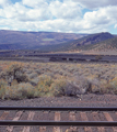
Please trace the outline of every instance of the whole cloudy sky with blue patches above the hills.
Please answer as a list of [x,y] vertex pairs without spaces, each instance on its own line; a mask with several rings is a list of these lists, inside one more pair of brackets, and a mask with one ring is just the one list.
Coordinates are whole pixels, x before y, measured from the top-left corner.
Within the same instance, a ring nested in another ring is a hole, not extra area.
[[117,34],[117,0],[0,0],[0,30]]

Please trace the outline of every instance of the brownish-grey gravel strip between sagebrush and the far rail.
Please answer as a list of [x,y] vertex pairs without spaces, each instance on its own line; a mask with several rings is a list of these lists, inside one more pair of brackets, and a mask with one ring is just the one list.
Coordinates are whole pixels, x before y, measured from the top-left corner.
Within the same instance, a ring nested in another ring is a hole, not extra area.
[[117,107],[117,95],[79,95],[78,97],[48,97],[23,100],[0,100],[0,106],[32,107]]

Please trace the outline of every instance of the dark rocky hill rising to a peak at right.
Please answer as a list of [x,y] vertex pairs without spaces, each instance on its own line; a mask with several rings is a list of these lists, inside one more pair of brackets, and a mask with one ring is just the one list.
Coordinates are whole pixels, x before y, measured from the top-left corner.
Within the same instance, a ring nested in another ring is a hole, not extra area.
[[112,35],[110,33],[107,32],[90,34],[87,36],[84,36],[75,41],[56,45],[56,47],[54,45],[49,46],[48,50],[49,51],[90,51],[90,50],[95,50],[95,46],[97,46],[97,44],[101,47],[101,44],[104,41],[107,43],[109,40],[113,38],[115,40],[115,35]]

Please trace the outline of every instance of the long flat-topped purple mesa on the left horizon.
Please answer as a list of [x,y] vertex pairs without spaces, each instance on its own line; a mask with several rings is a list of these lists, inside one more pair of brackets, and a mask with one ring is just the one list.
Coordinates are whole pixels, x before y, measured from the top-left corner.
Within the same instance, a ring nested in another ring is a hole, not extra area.
[[56,45],[78,40],[86,34],[58,32],[0,31],[0,50],[34,50],[42,45]]

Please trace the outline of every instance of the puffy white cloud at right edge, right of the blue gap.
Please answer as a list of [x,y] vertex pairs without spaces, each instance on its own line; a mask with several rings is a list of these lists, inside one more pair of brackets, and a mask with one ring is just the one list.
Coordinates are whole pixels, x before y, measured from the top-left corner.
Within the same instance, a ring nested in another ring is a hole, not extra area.
[[116,16],[117,7],[101,8],[97,11],[86,12],[84,14],[84,21],[90,23],[92,26],[107,26],[114,24],[117,21]]

